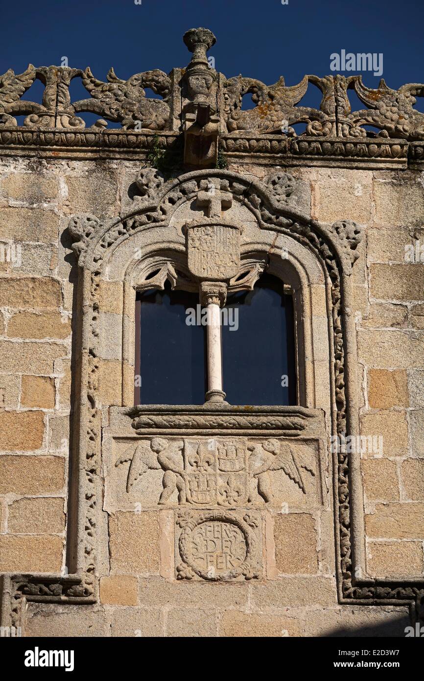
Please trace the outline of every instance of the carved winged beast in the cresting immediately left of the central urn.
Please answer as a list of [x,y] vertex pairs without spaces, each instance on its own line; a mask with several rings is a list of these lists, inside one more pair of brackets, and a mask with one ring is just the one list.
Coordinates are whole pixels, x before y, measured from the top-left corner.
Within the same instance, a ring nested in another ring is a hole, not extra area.
[[[107,78],[108,82],[97,80],[89,67],[85,69],[82,84],[92,99],[75,102],[76,112],[100,114],[111,121],[120,121],[123,128],[135,127],[137,122],[146,129],[162,130],[165,127],[170,112],[166,99],[171,88],[165,72],[154,69],[122,80],[111,68]],[[146,87],[163,99],[147,98]]]

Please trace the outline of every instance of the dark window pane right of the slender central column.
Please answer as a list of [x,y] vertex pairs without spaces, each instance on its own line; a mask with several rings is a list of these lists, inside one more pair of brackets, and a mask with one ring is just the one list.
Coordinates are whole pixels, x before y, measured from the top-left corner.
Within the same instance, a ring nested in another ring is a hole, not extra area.
[[[227,297],[223,383],[231,405],[297,404],[293,297],[263,274],[252,291]],[[238,311],[238,319],[235,316]],[[235,330],[235,321],[238,329]]]

